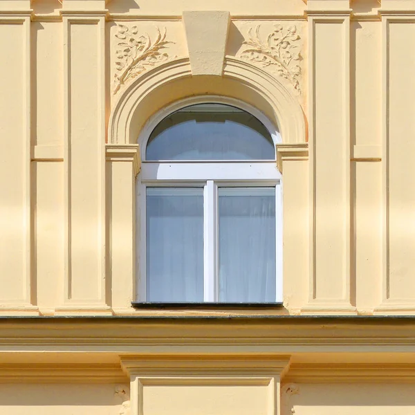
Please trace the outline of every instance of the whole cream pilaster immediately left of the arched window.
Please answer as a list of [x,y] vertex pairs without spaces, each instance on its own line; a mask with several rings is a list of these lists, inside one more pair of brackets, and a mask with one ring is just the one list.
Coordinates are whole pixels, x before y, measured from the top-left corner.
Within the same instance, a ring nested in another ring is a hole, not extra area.
[[105,3],[64,0],[63,302],[57,313],[111,313],[106,279]]

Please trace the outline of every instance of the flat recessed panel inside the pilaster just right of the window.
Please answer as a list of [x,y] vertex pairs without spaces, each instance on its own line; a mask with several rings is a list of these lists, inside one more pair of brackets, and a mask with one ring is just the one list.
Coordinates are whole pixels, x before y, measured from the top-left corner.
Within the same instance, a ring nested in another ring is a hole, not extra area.
[[[344,21],[315,22],[315,298],[344,299],[347,129]],[[348,261],[349,259],[347,259]],[[349,277],[349,275],[347,275]]]

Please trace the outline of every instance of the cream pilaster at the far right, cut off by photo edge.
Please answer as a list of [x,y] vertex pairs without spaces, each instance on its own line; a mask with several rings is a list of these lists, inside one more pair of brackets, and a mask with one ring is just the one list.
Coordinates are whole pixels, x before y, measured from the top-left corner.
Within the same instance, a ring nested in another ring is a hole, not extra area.
[[[376,314],[414,314],[415,1],[384,0],[382,17],[382,303]],[[405,42],[405,45],[403,44]]]

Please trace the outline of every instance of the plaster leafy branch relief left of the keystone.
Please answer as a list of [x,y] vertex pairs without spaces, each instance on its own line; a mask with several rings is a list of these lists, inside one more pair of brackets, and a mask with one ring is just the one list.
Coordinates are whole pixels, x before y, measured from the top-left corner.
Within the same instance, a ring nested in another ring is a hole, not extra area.
[[113,93],[116,94],[122,85],[126,84],[141,73],[145,72],[150,66],[155,66],[169,59],[167,53],[160,50],[166,48],[169,42],[166,40],[166,29],[160,32],[157,28],[157,36],[154,41],[148,33],[137,36],[137,26],[128,28],[123,24],[118,25],[116,37],[120,39],[116,49],[116,71],[114,74]]

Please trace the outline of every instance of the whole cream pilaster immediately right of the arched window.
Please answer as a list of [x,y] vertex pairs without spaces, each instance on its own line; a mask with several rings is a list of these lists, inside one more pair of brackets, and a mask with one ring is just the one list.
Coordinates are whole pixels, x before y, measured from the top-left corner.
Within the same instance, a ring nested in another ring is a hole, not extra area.
[[308,0],[309,298],[302,313],[353,314],[348,0]]

